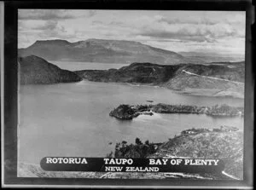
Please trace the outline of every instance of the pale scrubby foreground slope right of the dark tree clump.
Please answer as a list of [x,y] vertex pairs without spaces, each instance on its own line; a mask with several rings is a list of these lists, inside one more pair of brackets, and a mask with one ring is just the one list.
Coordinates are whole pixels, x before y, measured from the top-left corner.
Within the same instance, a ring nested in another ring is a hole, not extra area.
[[[196,135],[179,135],[163,143],[152,157],[220,158],[224,171],[242,179],[243,133],[207,132]],[[168,156],[167,156],[168,157]]]

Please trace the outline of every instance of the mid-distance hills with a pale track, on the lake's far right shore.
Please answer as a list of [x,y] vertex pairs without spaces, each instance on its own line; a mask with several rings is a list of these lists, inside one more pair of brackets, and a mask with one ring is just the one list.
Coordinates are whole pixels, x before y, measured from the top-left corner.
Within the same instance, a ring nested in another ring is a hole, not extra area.
[[120,69],[84,70],[75,73],[90,81],[158,85],[193,95],[242,98],[244,92],[244,62],[214,63],[209,66],[132,63]]

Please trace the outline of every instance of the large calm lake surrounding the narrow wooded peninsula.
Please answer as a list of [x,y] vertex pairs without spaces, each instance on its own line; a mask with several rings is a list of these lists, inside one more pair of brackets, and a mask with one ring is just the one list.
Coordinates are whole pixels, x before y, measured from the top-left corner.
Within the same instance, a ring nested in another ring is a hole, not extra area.
[[[131,121],[109,117],[119,104],[156,103],[243,106],[232,98],[179,95],[170,89],[120,83],[58,83],[20,86],[19,160],[39,164],[46,156],[104,157],[116,142],[162,142],[190,128],[232,125],[243,118],[212,118],[193,114],[154,114]],[[112,144],[111,144],[112,142]]]

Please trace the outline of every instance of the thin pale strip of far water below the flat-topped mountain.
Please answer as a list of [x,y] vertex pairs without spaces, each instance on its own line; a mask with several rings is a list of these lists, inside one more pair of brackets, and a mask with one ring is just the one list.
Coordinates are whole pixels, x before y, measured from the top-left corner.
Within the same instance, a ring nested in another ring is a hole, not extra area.
[[107,70],[109,68],[119,69],[122,66],[129,66],[130,64],[124,63],[96,63],[96,62],[79,62],[79,61],[55,61],[49,60],[50,63],[59,66],[61,69],[67,69],[69,71],[79,71],[79,70]]

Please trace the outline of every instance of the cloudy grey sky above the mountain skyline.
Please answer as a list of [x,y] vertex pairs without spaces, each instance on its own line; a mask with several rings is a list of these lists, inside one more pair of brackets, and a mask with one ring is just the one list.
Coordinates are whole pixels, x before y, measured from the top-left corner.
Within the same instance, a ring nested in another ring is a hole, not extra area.
[[18,47],[37,40],[131,40],[175,52],[244,55],[245,12],[19,9]]

